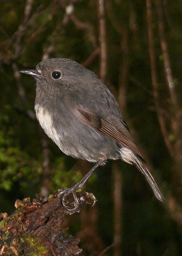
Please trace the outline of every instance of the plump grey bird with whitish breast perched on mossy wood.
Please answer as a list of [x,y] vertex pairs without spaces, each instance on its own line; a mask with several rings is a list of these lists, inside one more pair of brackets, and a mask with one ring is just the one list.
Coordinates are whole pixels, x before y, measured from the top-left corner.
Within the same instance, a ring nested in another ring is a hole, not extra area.
[[35,112],[48,137],[66,155],[96,162],[78,183],[64,190],[64,206],[66,195],[73,193],[74,210],[78,208],[75,191],[108,159],[121,159],[136,166],[156,198],[164,200],[144,166],[113,94],[92,71],[70,59],[56,58],[40,62],[35,70],[20,73],[36,80]]

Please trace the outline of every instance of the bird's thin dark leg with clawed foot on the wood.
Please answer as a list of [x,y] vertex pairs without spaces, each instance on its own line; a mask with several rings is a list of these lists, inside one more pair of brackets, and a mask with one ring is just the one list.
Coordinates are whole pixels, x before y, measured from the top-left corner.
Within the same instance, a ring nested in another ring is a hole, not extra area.
[[[98,166],[100,166],[101,164],[103,164],[105,162],[105,160],[98,160],[98,162],[92,167],[92,169],[82,178],[80,179],[75,185],[73,185],[71,188],[63,188],[63,189],[58,189],[58,193],[60,195],[64,194],[62,197],[62,204],[64,207],[66,207],[66,209],[68,211],[75,211],[79,208],[79,200],[76,196],[76,191],[78,189],[81,189],[82,186],[85,184],[85,182],[87,181],[87,179],[89,179],[89,177],[92,175],[92,173],[95,171],[96,168],[98,168]],[[66,197],[72,193],[73,198],[75,200],[75,207],[72,209],[69,209],[66,205]],[[95,197],[93,196],[93,199],[95,200]]]

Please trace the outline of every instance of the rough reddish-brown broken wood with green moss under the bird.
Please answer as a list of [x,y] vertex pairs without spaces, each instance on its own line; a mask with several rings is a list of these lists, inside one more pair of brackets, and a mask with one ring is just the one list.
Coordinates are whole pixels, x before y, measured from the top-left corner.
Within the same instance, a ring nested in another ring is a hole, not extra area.
[[[78,192],[80,208],[93,203],[92,194]],[[61,204],[58,193],[43,202],[38,194],[30,198],[17,199],[16,210],[10,216],[0,214],[0,255],[6,256],[73,256],[80,255],[79,238],[65,237],[62,223],[66,215],[75,214]],[[73,206],[72,194],[66,197],[68,205]],[[64,227],[65,230],[65,227]]]

